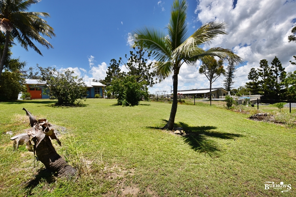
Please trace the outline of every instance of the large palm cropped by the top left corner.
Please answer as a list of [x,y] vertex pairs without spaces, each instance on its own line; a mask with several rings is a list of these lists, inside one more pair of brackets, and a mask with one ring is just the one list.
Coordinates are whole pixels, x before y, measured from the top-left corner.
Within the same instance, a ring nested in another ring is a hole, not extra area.
[[[16,39],[28,51],[28,46],[42,56],[41,51],[32,40],[46,48],[53,46],[41,35],[52,38],[54,29],[41,17],[49,17],[45,12],[26,12],[32,4],[41,0],[1,0],[0,1],[0,31],[5,34],[5,44],[0,61],[0,78],[7,56],[9,45]],[[41,35],[40,35],[41,34]]]

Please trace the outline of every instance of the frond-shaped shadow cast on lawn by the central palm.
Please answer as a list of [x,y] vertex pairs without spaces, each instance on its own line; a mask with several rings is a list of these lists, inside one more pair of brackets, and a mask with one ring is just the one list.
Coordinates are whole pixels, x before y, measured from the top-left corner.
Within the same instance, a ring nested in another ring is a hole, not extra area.
[[215,126],[189,126],[183,122],[179,122],[177,125],[183,127],[186,133],[183,136],[184,142],[189,144],[194,151],[204,152],[210,156],[217,151],[221,151],[211,138],[234,139],[243,136],[235,133],[212,131],[217,128]]

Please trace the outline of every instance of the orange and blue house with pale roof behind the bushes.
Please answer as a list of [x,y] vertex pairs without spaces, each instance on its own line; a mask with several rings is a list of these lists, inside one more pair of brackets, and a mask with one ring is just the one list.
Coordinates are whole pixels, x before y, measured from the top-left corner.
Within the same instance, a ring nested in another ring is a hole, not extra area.
[[[100,94],[104,98],[104,84],[100,82],[84,82],[86,84],[86,94],[87,98],[94,98],[94,95]],[[43,89],[46,87],[45,82],[40,82],[37,79],[25,79],[25,84],[27,87],[27,92],[31,94],[31,99],[48,99],[49,95],[43,95]],[[49,90],[46,90],[49,93]]]

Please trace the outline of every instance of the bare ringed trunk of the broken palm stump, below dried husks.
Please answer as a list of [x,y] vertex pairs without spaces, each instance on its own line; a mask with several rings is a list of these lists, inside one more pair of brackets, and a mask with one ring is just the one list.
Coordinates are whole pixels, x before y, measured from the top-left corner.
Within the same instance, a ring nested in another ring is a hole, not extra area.
[[41,161],[47,169],[56,173],[58,177],[75,176],[76,170],[57,154],[48,136],[44,137],[35,150],[38,160]]

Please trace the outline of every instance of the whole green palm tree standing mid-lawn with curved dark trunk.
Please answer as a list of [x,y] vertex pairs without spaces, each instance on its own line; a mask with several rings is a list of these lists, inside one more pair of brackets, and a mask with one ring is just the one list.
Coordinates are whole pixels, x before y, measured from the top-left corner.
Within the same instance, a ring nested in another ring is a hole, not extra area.
[[195,66],[196,61],[205,56],[217,56],[222,60],[234,59],[236,64],[242,62],[242,58],[229,49],[221,47],[210,48],[204,51],[200,48],[204,43],[209,43],[219,34],[227,34],[226,22],[209,22],[198,28],[188,37],[188,24],[186,21],[187,3],[185,0],[175,0],[171,8],[170,22],[167,32],[151,26],[143,26],[131,32],[131,39],[134,46],[141,45],[143,48],[154,51],[157,60],[155,69],[160,77],[173,75],[173,104],[168,123],[163,128],[172,130],[174,127],[177,112],[177,88],[178,74],[181,66],[186,63]]

